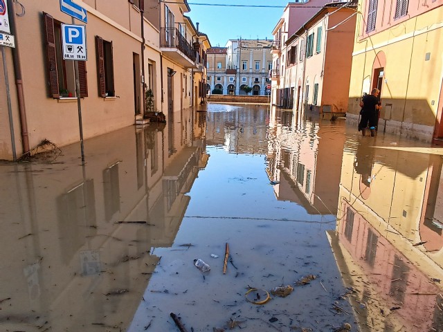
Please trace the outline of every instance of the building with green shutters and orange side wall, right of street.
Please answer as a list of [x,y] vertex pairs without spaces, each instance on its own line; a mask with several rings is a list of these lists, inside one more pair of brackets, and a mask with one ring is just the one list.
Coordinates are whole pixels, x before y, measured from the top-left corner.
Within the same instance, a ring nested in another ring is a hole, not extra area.
[[287,39],[275,104],[344,115],[350,86],[356,3],[325,5]]

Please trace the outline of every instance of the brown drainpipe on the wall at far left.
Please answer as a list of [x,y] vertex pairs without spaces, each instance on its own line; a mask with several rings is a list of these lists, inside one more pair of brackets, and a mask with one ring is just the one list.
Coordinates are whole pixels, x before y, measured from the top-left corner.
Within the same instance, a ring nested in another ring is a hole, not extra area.
[[26,122],[26,107],[23,92],[23,81],[21,80],[21,65],[19,55],[19,38],[17,35],[17,26],[15,25],[15,10],[12,0],[8,0],[8,8],[10,11],[9,23],[11,34],[15,36],[15,48],[12,48],[12,59],[14,62],[15,85],[17,86],[17,99],[19,101],[19,116],[21,126],[21,144],[23,153],[30,151],[28,123]]

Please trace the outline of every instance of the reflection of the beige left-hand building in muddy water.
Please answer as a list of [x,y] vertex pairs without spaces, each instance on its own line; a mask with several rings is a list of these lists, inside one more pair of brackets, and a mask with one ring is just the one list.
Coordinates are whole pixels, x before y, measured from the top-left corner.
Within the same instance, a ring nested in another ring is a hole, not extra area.
[[172,245],[207,160],[183,119],[173,154],[154,124],[85,141],[85,167],[76,145],[51,165],[2,167],[2,331],[129,325],[159,261],[150,248]]

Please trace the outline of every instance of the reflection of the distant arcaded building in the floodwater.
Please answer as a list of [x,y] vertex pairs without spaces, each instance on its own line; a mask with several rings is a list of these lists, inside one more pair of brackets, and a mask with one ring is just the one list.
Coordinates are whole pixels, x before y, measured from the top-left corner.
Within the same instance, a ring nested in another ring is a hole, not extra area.
[[255,105],[208,104],[207,144],[235,154],[265,154],[267,117],[267,110]]

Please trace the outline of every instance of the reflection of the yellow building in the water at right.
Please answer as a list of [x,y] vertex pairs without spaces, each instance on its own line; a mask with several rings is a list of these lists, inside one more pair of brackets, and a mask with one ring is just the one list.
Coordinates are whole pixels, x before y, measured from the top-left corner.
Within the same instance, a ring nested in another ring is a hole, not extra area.
[[442,158],[369,144],[346,142],[330,234],[361,331],[442,331]]

